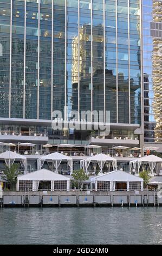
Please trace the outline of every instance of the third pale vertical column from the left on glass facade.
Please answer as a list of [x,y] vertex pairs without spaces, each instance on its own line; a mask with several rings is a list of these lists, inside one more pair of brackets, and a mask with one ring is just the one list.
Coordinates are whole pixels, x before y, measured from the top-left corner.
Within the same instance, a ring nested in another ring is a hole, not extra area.
[[40,107],[40,1],[38,1],[38,77],[37,77],[37,119],[39,119]]

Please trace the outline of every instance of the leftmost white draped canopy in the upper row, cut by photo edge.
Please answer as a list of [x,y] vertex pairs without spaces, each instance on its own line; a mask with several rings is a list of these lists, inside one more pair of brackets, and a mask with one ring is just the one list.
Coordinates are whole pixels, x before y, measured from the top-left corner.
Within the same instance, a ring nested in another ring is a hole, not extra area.
[[24,168],[24,173],[27,170],[27,157],[15,152],[5,151],[4,153],[1,153],[0,160],[4,160],[8,167],[10,167],[15,162],[15,160],[20,161],[21,166]]

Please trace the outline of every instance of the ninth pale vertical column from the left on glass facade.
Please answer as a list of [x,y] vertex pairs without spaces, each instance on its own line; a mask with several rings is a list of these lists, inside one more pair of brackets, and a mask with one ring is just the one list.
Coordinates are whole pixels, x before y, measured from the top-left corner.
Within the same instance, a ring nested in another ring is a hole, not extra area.
[[118,0],[115,5],[116,15],[116,123],[118,123]]

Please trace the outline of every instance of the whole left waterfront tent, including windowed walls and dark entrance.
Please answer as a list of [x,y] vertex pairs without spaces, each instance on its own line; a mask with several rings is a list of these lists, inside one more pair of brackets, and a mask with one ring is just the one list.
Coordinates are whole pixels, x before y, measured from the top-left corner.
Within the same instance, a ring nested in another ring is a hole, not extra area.
[[68,191],[70,178],[47,169],[18,176],[17,191]]

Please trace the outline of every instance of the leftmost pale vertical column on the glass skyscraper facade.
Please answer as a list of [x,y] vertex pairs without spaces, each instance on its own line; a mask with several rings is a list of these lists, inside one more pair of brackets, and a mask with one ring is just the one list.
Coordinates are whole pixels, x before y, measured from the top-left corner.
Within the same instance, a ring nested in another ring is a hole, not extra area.
[[10,78],[9,78],[9,118],[11,117],[11,65],[12,65],[12,0],[10,2]]

